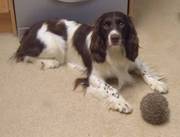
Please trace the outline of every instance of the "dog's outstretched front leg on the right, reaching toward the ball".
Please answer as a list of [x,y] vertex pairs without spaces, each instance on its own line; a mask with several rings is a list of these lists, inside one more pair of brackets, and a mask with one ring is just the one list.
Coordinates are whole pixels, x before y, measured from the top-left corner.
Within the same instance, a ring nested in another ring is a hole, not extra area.
[[167,93],[168,87],[166,83],[161,81],[161,77],[156,75],[150,68],[143,63],[140,59],[136,59],[135,66],[139,70],[140,75],[143,77],[144,81],[156,91],[160,93]]

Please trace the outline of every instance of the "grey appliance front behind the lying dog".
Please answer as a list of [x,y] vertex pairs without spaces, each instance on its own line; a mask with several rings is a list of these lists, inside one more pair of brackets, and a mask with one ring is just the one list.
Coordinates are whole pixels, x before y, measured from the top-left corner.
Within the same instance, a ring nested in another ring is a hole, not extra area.
[[81,23],[93,23],[105,12],[118,10],[127,14],[128,11],[128,0],[87,0],[77,3],[58,0],[14,0],[14,5],[18,34],[42,20],[65,18]]

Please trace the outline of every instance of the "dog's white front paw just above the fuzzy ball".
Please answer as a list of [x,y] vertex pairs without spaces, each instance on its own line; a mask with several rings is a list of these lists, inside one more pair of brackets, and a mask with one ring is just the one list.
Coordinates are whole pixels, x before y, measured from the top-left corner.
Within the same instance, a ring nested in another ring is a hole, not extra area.
[[159,93],[162,93],[162,94],[168,93],[168,87],[167,87],[166,83],[159,81],[159,80],[155,80],[152,83],[151,88],[155,91],[158,91]]

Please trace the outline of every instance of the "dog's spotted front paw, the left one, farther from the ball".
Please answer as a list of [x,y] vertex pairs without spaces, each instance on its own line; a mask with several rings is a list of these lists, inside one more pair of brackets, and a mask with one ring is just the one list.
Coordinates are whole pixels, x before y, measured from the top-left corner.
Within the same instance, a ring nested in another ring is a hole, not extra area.
[[110,106],[110,109],[119,111],[121,113],[129,114],[133,111],[131,105],[123,98],[114,98],[112,101],[112,105]]

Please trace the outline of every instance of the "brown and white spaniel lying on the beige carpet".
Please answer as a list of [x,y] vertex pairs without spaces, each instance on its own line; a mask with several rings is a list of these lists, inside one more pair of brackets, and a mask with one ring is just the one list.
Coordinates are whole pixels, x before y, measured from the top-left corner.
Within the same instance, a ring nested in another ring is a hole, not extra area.
[[[119,94],[122,86],[132,81],[130,71],[136,70],[153,90],[168,91],[160,77],[137,58],[135,27],[121,12],[103,14],[94,26],[66,19],[40,22],[24,34],[20,44],[15,53],[17,62],[41,62],[43,69],[68,64],[85,72],[83,78],[76,79],[75,88],[79,84],[86,86],[88,92],[104,99],[109,108],[122,113],[132,111]],[[118,89],[105,82],[109,77],[118,79]]]

